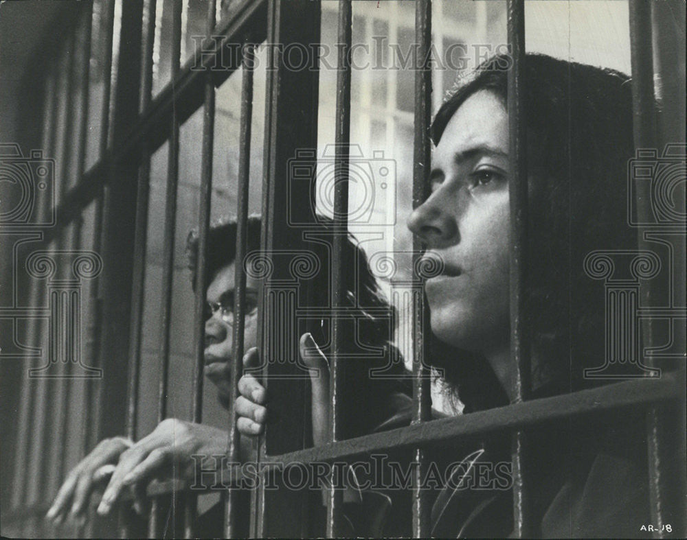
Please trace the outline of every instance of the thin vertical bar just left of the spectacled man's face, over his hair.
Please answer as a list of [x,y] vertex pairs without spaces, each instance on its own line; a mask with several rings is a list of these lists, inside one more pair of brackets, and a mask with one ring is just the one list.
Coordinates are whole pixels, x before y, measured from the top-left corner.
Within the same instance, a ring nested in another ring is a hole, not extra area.
[[[212,34],[215,24],[215,0],[207,3],[206,36]],[[201,190],[199,197],[198,218],[198,257],[196,259],[196,294],[194,306],[194,348],[195,366],[192,380],[192,421],[200,423],[203,420],[203,366],[205,351],[205,289],[207,287],[207,229],[210,227],[210,202],[212,198],[212,157],[214,149],[214,119],[215,119],[215,88],[212,71],[205,73],[205,100],[203,102],[203,156],[201,162]],[[238,272],[238,269],[236,270]],[[184,530],[185,537],[192,538],[193,524],[196,519],[197,497],[188,493],[185,503]]]

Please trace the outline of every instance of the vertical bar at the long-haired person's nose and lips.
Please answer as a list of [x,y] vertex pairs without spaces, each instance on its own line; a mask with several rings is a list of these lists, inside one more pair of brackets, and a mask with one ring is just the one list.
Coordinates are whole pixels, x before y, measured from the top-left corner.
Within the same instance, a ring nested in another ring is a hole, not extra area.
[[[431,1],[418,0],[415,4],[415,119],[414,119],[414,159],[413,159],[413,208],[423,204],[430,194],[429,171],[431,160]],[[422,62],[422,64],[420,64]],[[418,259],[423,246],[418,237],[413,239],[414,281],[420,281]],[[421,281],[420,281],[421,283]],[[413,314],[413,423],[431,420],[431,379],[427,359],[429,358],[429,309],[425,306],[422,289],[414,291]],[[430,535],[431,502],[429,491],[422,489],[422,479],[427,476],[429,460],[427,449],[414,451],[414,484],[412,498],[413,536],[427,538]]]

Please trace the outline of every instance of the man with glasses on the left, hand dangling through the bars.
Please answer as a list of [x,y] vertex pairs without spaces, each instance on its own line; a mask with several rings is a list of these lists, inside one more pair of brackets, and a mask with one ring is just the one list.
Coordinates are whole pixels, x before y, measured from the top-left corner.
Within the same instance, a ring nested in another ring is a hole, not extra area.
[[[330,287],[330,250],[332,222],[319,218],[319,226],[309,231],[311,237],[319,242],[311,242],[308,248],[322,266],[312,278],[314,296],[313,307],[327,307]],[[234,274],[236,221],[225,220],[213,226],[208,235],[207,276],[209,283],[206,292],[207,313],[205,314],[205,368],[204,373],[214,383],[218,399],[225,408],[229,406],[232,371],[232,325],[234,323]],[[192,274],[195,273],[198,251],[198,237],[192,231],[188,237],[187,253]],[[247,253],[258,252],[260,248],[260,218],[249,217],[247,223]],[[348,373],[346,384],[356,397],[357,409],[352,411],[354,419],[348,425],[348,436],[370,432],[376,425],[394,416],[398,403],[405,403],[409,386],[401,375],[405,375],[403,357],[390,344],[394,329],[395,310],[383,298],[383,294],[370,273],[368,261],[363,250],[353,237],[348,237],[344,245],[343,258],[348,268],[346,281],[346,307],[359,321],[358,341],[351,343],[348,350],[358,351],[359,347],[374,347],[383,352],[376,362],[357,362]],[[192,275],[195,284],[195,275]],[[258,336],[258,290],[260,281],[247,274],[245,308],[245,347],[255,347]],[[318,326],[317,340],[328,340],[328,321],[322,320]],[[315,364],[313,354],[319,349],[308,347],[314,340],[310,334],[301,340],[300,351],[306,365]],[[390,378],[368,380],[368,371],[374,367],[383,368]],[[313,386],[322,386],[313,373]],[[396,378],[394,378],[396,377]],[[258,395],[258,399],[262,396]],[[317,415],[318,410],[313,411]],[[250,419],[241,413],[237,403],[238,428],[242,433],[254,432],[255,426],[267,420],[264,412],[256,413]],[[313,434],[319,442],[319,434]],[[245,443],[245,441],[243,441]],[[243,444],[242,444],[243,446]],[[142,513],[145,506],[144,487],[152,478],[164,478],[178,467],[184,474],[194,472],[191,456],[217,456],[225,454],[227,432],[209,425],[197,424],[180,419],[166,419],[136,443],[124,437],[114,437],[101,441],[91,453],[72,469],[58,491],[54,503],[47,512],[48,519],[56,523],[71,516],[81,521],[89,498],[99,485],[109,478],[98,513],[108,514],[125,489],[131,489],[135,497],[135,508]],[[247,458],[247,452],[242,452]],[[212,508],[199,518],[199,528],[208,535],[222,534],[221,505]]]

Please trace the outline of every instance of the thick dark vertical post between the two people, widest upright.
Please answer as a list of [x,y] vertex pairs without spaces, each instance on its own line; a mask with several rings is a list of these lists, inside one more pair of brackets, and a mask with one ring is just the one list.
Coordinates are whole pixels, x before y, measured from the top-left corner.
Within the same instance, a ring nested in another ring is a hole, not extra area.
[[[270,0],[268,11],[269,69],[265,93],[261,247],[269,257],[275,249],[297,253],[304,248],[302,228],[289,224],[294,220],[300,223],[315,220],[311,193],[315,182],[319,71],[314,58],[306,69],[291,69],[282,54],[286,44],[300,43],[307,49],[307,44],[319,43],[320,5],[306,0]],[[311,167],[311,181],[291,181],[288,172],[293,159],[298,159],[299,165]],[[258,339],[267,377],[264,384],[269,388],[273,406],[278,403],[280,421],[267,425],[258,449],[260,459],[266,451],[299,449],[304,445],[305,436],[302,419],[306,401],[304,376],[307,375],[295,366],[295,362],[283,362],[285,355],[293,358],[298,354],[297,339],[296,336],[278,336],[278,331],[284,331],[280,328],[282,325],[268,324],[280,317],[283,320],[293,316],[293,312],[280,313],[282,304],[274,300],[283,292],[280,281],[293,283],[294,277],[288,260],[275,261],[273,268],[271,277],[264,279],[260,287]],[[267,313],[267,309],[272,312]],[[276,350],[273,344],[277,338],[284,338],[289,343],[288,351],[284,347]],[[288,375],[302,378],[283,378]],[[299,519],[303,505],[307,504],[306,493],[288,489],[270,490],[268,493],[264,490],[264,482],[260,482],[254,493],[252,536],[306,535],[306,524]]]

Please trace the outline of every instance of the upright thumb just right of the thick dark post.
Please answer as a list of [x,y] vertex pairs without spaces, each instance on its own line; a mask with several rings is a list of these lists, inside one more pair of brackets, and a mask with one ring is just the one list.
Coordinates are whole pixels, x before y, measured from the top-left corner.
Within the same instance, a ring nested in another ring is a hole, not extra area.
[[308,366],[313,388],[313,442],[321,446],[328,442],[329,435],[329,363],[309,332],[301,336],[300,354]]

